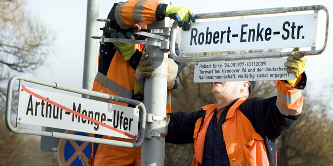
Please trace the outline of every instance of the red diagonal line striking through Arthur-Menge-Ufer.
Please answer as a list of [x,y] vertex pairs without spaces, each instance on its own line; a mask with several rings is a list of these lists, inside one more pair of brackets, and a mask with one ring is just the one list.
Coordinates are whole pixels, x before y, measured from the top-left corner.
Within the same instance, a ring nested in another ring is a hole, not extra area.
[[56,106],[58,106],[58,107],[60,107],[60,108],[62,108],[62,109],[64,109],[64,110],[67,110],[67,111],[69,111],[69,112],[71,112],[71,113],[73,113],[73,114],[76,114],[76,115],[78,115],[78,116],[80,116],[80,117],[83,117],[83,118],[85,118],[85,119],[87,119],[87,120],[90,120],[90,121],[92,121],[92,122],[94,122],[94,123],[100,124],[100,125],[102,125],[102,126],[104,126],[104,127],[107,127],[107,128],[109,128],[109,129],[111,129],[111,130],[114,130],[114,131],[116,131],[116,132],[119,132],[119,133],[121,133],[121,134],[123,134],[123,135],[126,135],[126,136],[130,137],[130,138],[136,139],[136,137],[135,137],[134,135],[132,135],[132,134],[129,134],[129,133],[125,132],[125,131],[122,131],[122,130],[120,130],[120,129],[118,129],[118,128],[112,127],[112,126],[110,126],[110,125],[108,125],[108,124],[105,124],[105,123],[103,123],[103,122],[101,122],[101,121],[98,121],[98,120],[96,120],[96,119],[94,119],[94,118],[91,118],[91,117],[89,117],[89,116],[86,116],[86,115],[84,115],[84,114],[82,114],[82,113],[79,113],[79,112],[77,112],[77,111],[75,111],[75,110],[72,110],[72,109],[70,109],[70,108],[68,108],[68,107],[66,107],[66,106],[64,106],[64,105],[61,105],[61,104],[59,104],[59,103],[57,103],[57,102],[55,102],[55,101],[52,101],[52,100],[50,100],[50,99],[48,99],[48,98],[46,98],[46,97],[43,97],[43,96],[41,96],[41,95],[39,95],[39,94],[37,94],[37,93],[35,93],[35,92],[32,92],[31,90],[27,89],[24,85],[22,85],[22,88],[23,88],[25,91],[27,91],[27,93],[29,93],[29,94],[31,94],[31,95],[33,95],[33,96],[39,98],[39,99],[42,99],[42,100],[44,100],[44,101],[47,101],[47,102],[49,102],[49,103],[51,103],[51,104],[53,104],[53,105],[56,105]]

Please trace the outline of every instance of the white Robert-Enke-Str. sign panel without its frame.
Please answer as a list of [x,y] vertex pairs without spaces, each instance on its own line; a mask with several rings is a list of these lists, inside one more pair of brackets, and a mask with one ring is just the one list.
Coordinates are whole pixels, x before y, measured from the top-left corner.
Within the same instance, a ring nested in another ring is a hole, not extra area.
[[180,53],[315,46],[317,13],[192,23]]

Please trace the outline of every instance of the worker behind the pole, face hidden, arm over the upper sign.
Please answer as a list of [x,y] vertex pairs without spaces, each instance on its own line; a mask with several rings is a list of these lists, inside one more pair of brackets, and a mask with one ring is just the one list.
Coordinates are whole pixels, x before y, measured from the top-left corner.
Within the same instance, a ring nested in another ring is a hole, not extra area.
[[[195,21],[194,13],[187,6],[163,4],[157,0],[130,0],[115,3],[108,14],[110,22],[107,26],[119,30],[119,32],[105,31],[103,35],[109,38],[135,39],[131,32],[124,31],[133,26],[139,30],[147,28],[147,23],[163,20],[165,16],[175,19],[179,27],[184,30],[189,28],[190,20]],[[98,73],[94,80],[93,90],[142,101],[144,77],[152,76],[154,69],[150,66],[152,59],[148,58],[147,53],[143,52],[142,49],[142,44],[134,43],[109,42],[101,44]],[[171,112],[170,90],[177,86],[176,75],[183,67],[184,65],[176,64],[172,59],[168,59],[167,112]],[[91,98],[102,100],[97,97]],[[104,101],[131,106],[118,101]],[[95,134],[95,137],[133,141],[132,139],[98,134]],[[140,165],[140,153],[140,147],[129,148],[93,143],[89,165]]]

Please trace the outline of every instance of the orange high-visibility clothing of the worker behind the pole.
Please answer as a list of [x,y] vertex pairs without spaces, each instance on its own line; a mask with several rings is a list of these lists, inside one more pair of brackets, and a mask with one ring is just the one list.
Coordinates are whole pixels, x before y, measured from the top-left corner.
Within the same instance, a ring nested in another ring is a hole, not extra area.
[[[115,3],[108,15],[108,18],[110,19],[108,26],[124,30],[133,27],[133,25],[138,22],[144,22],[136,24],[137,27],[141,28],[140,26],[145,25],[145,23],[152,23],[155,20],[164,19],[165,14],[163,17],[163,9],[160,9],[159,12],[156,11],[158,8],[163,8],[163,6],[166,6],[166,4],[159,4],[157,0],[130,0],[127,2]],[[105,37],[111,37],[110,33],[105,32],[103,35]],[[113,43],[101,44],[99,50],[98,73],[94,80],[93,90],[142,101],[142,94],[133,93],[135,69],[143,54],[143,45],[136,44],[136,48],[137,51],[131,56],[130,60],[126,61],[114,47]],[[169,69],[172,70],[170,63],[168,70]],[[168,74],[170,72],[171,71],[169,71]],[[103,100],[97,97],[92,97],[92,99]],[[127,103],[106,99],[103,101],[125,106],[128,105]],[[167,112],[171,112],[170,90],[167,91]],[[96,134],[95,136],[121,141],[133,141],[132,139],[107,135]],[[140,151],[141,148],[128,148],[93,143],[89,164],[140,165]]]

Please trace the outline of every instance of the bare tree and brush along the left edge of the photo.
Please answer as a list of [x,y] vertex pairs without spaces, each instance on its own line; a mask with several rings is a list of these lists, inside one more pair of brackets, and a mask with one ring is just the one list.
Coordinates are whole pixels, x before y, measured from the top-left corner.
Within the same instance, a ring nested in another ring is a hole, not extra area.
[[10,76],[32,72],[41,66],[53,38],[27,12],[24,2],[0,0],[0,165],[58,165],[54,153],[40,150],[40,137],[10,132],[4,124]]

